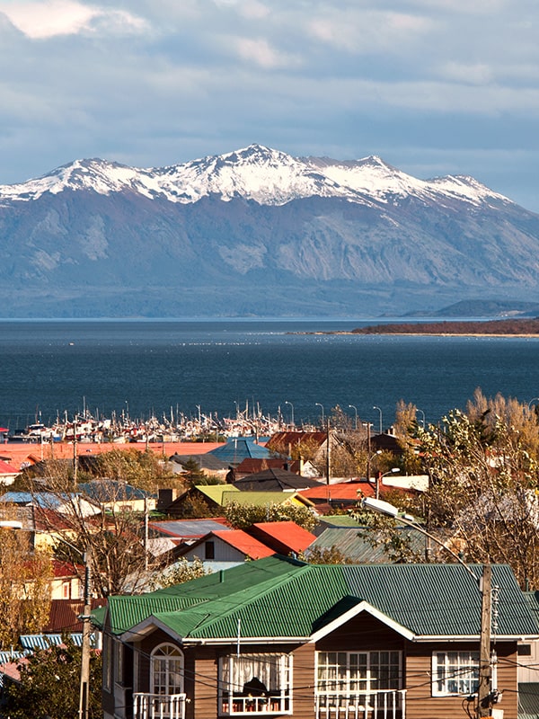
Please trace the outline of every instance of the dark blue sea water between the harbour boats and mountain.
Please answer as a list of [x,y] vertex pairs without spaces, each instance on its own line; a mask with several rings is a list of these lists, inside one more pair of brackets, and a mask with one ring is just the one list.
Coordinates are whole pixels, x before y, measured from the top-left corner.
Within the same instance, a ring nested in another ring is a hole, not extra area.
[[539,395],[537,338],[331,334],[363,324],[376,323],[2,320],[0,425],[246,408],[299,424],[340,405],[377,431],[401,399],[437,422],[476,387],[526,403]]

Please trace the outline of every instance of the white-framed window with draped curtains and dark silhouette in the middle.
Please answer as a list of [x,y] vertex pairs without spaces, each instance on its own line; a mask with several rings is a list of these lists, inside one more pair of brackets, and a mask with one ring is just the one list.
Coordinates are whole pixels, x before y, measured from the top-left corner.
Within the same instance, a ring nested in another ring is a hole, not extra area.
[[292,713],[292,657],[240,654],[219,662],[221,715]]

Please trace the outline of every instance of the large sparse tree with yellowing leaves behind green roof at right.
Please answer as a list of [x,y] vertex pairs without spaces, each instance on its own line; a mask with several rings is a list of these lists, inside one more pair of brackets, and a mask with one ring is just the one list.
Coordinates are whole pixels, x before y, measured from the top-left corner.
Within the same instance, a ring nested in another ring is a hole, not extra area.
[[420,431],[429,472],[424,516],[451,530],[467,562],[510,564],[539,588],[539,466],[508,417],[454,410],[443,428]]

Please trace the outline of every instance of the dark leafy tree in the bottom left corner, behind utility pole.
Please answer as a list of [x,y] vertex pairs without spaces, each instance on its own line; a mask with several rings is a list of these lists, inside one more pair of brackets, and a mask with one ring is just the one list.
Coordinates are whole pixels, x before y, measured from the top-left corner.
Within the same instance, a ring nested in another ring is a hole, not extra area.
[[[19,662],[21,679],[7,688],[4,715],[11,719],[77,719],[81,650],[67,638],[64,644],[33,652]],[[102,716],[102,660],[97,652],[90,657],[89,719]]]

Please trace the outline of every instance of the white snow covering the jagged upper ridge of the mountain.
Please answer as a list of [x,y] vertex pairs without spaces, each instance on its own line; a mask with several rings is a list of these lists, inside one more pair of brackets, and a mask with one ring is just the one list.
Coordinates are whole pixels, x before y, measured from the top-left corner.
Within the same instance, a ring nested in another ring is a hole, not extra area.
[[429,201],[442,196],[474,204],[490,198],[508,201],[473,178],[418,180],[377,155],[359,160],[293,157],[258,144],[146,170],[96,158],[75,160],[38,179],[0,186],[0,201],[36,200],[45,192],[67,190],[104,195],[133,191],[149,199],[160,197],[181,203],[211,195],[224,201],[241,197],[263,205],[283,205],[307,197],[336,197],[372,205],[411,195]]

